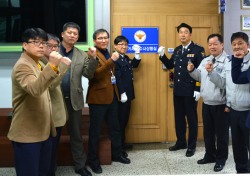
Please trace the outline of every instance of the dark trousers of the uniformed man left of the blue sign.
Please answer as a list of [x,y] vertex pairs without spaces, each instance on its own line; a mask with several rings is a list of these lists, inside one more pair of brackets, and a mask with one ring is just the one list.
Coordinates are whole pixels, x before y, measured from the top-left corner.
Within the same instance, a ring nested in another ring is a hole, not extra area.
[[131,101],[126,101],[125,103],[119,102],[118,118],[121,128],[122,147],[124,147],[125,144],[125,138],[126,138],[125,130],[129,120],[130,108],[131,108]]

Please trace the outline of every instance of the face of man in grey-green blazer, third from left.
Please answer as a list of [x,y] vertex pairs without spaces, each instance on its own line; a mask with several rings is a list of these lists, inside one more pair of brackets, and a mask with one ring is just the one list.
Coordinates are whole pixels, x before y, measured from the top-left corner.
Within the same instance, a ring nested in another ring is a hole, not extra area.
[[77,28],[68,27],[62,32],[63,41],[68,45],[75,45],[79,38],[79,31]]

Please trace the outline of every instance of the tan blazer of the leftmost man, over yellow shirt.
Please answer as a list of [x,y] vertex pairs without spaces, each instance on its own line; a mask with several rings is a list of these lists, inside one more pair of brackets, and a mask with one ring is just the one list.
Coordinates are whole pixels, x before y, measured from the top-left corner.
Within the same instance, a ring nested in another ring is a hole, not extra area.
[[57,76],[50,66],[45,66],[41,72],[37,63],[22,53],[11,75],[13,118],[8,133],[10,140],[32,143],[56,135],[48,88]]

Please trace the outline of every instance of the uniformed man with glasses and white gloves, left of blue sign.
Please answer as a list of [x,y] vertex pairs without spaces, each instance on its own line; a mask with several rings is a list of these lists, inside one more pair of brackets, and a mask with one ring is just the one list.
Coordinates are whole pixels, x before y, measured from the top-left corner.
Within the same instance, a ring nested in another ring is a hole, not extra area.
[[140,46],[134,45],[134,59],[130,59],[126,52],[128,50],[128,39],[125,36],[117,36],[114,40],[114,48],[120,57],[115,63],[115,77],[118,87],[120,102],[118,117],[121,128],[121,141],[124,150],[131,149],[131,144],[125,144],[125,129],[128,124],[131,101],[135,98],[133,68],[137,68],[141,62]]

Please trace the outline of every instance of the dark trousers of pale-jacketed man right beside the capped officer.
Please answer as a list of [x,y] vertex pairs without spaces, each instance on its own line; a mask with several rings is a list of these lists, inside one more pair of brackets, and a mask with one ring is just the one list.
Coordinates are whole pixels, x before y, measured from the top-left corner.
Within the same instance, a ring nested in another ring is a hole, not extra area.
[[229,114],[224,110],[224,104],[202,105],[205,157],[217,164],[225,164],[228,157]]

